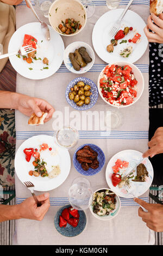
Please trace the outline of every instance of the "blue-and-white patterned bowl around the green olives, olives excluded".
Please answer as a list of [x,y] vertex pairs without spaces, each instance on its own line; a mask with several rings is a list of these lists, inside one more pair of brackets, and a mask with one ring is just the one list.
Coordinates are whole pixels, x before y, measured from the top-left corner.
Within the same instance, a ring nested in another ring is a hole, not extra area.
[[[71,92],[71,88],[74,87],[79,81],[83,81],[85,84],[89,84],[89,86],[91,86],[91,93],[92,95],[90,96],[90,99],[91,99],[91,102],[88,104],[88,105],[83,105],[81,107],[77,106],[76,102],[74,102],[73,100],[70,100],[69,97],[68,97],[68,94]],[[68,104],[77,109],[77,110],[86,110],[86,109],[89,109],[91,107],[93,107],[96,103],[98,99],[98,89],[97,89],[97,86],[96,84],[90,80],[89,78],[86,78],[86,77],[78,77],[78,78],[75,78],[74,80],[72,80],[67,88],[66,88],[66,100],[68,102]]]

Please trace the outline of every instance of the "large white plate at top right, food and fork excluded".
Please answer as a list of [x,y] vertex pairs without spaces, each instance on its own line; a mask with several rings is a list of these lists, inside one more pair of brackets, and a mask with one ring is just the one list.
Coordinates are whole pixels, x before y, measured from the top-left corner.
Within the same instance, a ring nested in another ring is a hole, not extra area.
[[[136,62],[140,59],[141,56],[145,53],[148,46],[148,40],[143,28],[146,26],[146,23],[143,19],[134,11],[128,10],[123,20],[121,21],[120,29],[124,27],[133,27],[133,31],[130,31],[128,35],[124,36],[123,39],[118,40],[118,45],[114,46],[114,52],[107,52],[106,46],[110,45],[110,40],[112,39],[109,36],[109,31],[114,22],[121,15],[123,9],[111,10],[102,15],[99,20],[96,22],[95,27],[93,28],[92,33],[92,43],[97,55],[104,60],[106,63],[117,62],[117,61],[127,61],[130,63]],[[120,30],[119,29],[119,30]],[[129,39],[132,39],[136,31],[141,34],[141,41],[139,44],[133,44],[133,42],[128,42]],[[127,40],[127,43],[120,44],[122,40]],[[133,52],[129,55],[128,58],[123,58],[120,56],[120,51],[129,45],[133,46]]]

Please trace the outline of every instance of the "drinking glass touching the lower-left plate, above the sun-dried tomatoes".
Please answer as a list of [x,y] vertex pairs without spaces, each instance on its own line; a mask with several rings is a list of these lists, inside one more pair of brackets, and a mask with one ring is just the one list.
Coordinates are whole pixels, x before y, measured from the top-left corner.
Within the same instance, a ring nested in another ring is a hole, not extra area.
[[72,148],[74,147],[79,138],[79,133],[76,129],[70,126],[64,126],[56,133],[56,141],[61,147]]

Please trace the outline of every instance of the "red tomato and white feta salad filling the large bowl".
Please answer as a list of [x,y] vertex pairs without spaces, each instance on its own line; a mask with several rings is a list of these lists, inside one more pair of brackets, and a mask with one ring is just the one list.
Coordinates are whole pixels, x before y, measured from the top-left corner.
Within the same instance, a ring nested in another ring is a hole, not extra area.
[[137,80],[129,65],[107,65],[99,84],[104,99],[115,106],[129,105],[137,96]]

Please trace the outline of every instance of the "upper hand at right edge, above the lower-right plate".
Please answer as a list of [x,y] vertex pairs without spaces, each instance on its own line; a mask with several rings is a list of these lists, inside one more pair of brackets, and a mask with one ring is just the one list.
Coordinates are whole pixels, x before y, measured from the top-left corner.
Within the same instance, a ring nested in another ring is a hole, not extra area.
[[143,157],[153,157],[156,154],[163,153],[163,127],[159,127],[152,137],[151,141],[148,142],[148,149],[143,153]]

